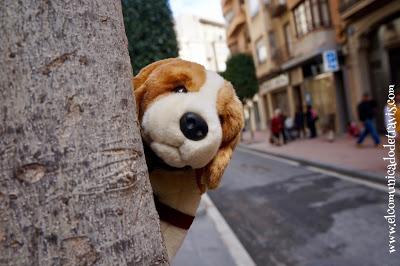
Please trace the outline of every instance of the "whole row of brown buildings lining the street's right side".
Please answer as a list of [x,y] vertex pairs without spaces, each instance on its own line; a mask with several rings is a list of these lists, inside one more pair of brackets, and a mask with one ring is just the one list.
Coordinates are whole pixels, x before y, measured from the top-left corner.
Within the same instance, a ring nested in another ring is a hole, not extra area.
[[[231,2],[222,1],[224,14]],[[237,2],[260,87],[252,101],[257,129],[268,126],[277,108],[293,117],[312,105],[320,130],[341,133],[358,121],[357,105],[368,92],[383,130],[387,88],[400,82],[400,1]]]

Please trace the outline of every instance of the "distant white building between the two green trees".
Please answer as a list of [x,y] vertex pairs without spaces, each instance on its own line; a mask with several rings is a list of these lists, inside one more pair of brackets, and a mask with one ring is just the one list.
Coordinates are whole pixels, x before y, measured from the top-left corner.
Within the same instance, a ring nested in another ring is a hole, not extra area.
[[224,24],[193,15],[182,15],[176,19],[175,29],[180,58],[199,63],[213,71],[225,71],[229,49]]

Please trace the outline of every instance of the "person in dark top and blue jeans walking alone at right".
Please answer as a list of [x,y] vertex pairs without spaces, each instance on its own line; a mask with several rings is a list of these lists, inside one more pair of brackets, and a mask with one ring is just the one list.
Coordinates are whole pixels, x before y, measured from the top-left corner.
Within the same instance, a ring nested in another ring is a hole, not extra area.
[[358,118],[364,125],[364,129],[362,130],[360,137],[358,138],[357,146],[361,146],[368,134],[371,134],[375,142],[375,146],[379,146],[379,143],[381,141],[378,135],[378,131],[375,127],[375,110],[376,101],[373,100],[368,93],[364,93],[361,102],[357,106]]

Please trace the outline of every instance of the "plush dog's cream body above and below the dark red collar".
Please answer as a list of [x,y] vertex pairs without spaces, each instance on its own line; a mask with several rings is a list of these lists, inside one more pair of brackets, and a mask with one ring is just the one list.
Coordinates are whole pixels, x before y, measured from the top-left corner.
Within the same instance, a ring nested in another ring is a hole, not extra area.
[[[201,192],[197,186],[195,171],[193,169],[170,171],[154,170],[150,175],[151,186],[158,199],[183,213],[195,216],[200,203]],[[187,230],[160,221],[161,233],[170,260],[185,239]]]

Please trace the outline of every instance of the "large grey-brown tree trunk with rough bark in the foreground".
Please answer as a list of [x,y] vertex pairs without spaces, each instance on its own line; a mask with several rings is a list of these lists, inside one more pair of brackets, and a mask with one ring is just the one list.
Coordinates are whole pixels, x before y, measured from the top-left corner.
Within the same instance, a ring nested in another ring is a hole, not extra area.
[[166,262],[120,1],[2,1],[0,265]]

